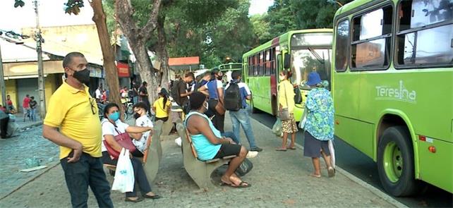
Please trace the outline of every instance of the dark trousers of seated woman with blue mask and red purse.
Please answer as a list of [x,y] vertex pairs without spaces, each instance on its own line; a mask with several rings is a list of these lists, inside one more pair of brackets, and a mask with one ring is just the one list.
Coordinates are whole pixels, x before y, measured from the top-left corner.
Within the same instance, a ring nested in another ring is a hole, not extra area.
[[[104,164],[111,164],[116,166],[118,162],[117,159],[111,159],[109,153],[102,152],[102,162]],[[133,167],[133,174],[135,181],[138,183],[140,187],[140,192],[142,195],[147,194],[147,192],[151,191],[150,183],[148,183],[148,179],[146,178],[145,171],[143,170],[142,162],[139,159],[133,157],[131,159],[132,167]],[[126,197],[136,197],[137,196],[137,183],[133,185],[133,192],[126,192]]]

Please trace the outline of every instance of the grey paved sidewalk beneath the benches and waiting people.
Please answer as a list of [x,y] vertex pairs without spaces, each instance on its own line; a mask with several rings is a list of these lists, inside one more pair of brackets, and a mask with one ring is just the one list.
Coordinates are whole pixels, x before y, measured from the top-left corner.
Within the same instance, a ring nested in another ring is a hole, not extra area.
[[[327,178],[325,169],[322,178],[308,176],[313,167],[301,149],[274,151],[281,141],[258,121],[252,119],[252,124],[258,145],[264,151],[250,159],[254,168],[243,177],[252,184],[251,188],[217,186],[209,192],[200,191],[183,169],[181,148],[174,143],[173,135],[162,139],[162,163],[152,184],[153,191],[163,198],[133,204],[124,202],[124,195],[114,191],[111,198],[115,207],[394,207],[339,171],[334,178]],[[225,126],[231,129],[228,116]],[[246,142],[243,134],[242,141]],[[218,174],[214,178],[219,182]],[[107,179],[110,183],[113,180],[109,175]],[[70,206],[59,165],[0,200],[0,207]],[[97,207],[92,193],[88,206]]]

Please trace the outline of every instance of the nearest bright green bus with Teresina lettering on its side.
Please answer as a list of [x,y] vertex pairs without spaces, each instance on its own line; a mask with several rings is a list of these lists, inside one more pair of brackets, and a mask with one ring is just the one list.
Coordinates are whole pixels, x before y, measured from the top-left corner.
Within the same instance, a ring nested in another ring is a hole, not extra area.
[[453,192],[453,0],[356,0],[334,16],[335,135],[383,188]]

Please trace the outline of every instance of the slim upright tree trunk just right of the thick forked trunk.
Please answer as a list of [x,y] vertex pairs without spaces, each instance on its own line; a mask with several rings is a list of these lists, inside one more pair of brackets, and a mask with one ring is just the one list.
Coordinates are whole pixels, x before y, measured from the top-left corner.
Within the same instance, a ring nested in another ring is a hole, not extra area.
[[167,35],[165,34],[165,17],[157,20],[157,57],[161,63],[160,70],[162,71],[162,78],[160,86],[169,90],[169,55],[167,53]]

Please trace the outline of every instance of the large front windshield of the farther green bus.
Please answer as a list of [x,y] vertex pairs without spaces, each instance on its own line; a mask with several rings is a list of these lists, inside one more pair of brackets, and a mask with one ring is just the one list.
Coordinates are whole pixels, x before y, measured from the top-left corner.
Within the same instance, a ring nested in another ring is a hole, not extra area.
[[308,73],[317,71],[321,80],[329,82],[330,89],[330,53],[331,49],[294,49],[291,50],[291,82],[303,87],[308,79]]

